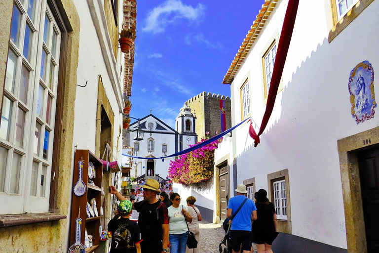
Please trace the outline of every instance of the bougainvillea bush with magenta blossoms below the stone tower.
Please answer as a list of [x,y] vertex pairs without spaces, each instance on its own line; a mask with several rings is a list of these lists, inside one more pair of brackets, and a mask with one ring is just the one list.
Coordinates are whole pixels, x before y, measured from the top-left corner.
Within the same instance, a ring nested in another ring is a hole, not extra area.
[[[201,139],[201,142],[206,139]],[[169,177],[186,186],[209,180],[213,176],[213,160],[218,140],[179,156],[170,162]],[[191,147],[194,145],[191,145]]]

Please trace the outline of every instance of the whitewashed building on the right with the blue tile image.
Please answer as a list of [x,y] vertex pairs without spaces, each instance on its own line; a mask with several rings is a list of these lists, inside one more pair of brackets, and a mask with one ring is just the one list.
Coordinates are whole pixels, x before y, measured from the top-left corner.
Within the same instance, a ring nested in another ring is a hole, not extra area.
[[[265,0],[227,71],[233,126],[251,117],[259,130],[287,4]],[[249,198],[267,190],[275,253],[379,252],[378,9],[378,0],[301,0],[261,143],[246,123],[216,150],[215,217],[237,184]]]

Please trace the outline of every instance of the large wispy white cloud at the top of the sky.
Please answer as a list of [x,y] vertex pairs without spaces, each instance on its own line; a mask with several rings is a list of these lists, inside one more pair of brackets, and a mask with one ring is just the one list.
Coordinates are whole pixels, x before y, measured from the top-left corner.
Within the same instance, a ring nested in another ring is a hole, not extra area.
[[146,26],[142,28],[142,31],[153,34],[162,33],[169,24],[179,19],[187,19],[191,23],[199,22],[204,14],[205,6],[201,3],[194,8],[183,4],[181,0],[166,0],[149,12]]

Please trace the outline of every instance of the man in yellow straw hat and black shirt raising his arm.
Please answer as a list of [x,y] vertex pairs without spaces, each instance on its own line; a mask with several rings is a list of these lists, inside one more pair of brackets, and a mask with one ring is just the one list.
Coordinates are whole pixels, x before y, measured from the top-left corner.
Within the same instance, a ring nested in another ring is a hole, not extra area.
[[[133,203],[133,209],[140,213],[141,252],[165,253],[168,251],[168,211],[166,205],[156,199],[156,194],[160,192],[159,183],[148,179],[142,187],[144,201]],[[109,190],[118,200],[125,199],[114,186],[111,185]]]

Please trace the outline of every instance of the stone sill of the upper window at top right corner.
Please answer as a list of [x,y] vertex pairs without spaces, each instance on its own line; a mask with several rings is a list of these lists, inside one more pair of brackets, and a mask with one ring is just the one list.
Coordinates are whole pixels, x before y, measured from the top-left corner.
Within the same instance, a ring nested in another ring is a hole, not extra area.
[[358,1],[329,32],[328,41],[332,42],[356,17],[361,14],[374,0]]

